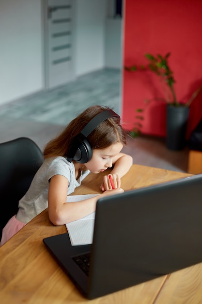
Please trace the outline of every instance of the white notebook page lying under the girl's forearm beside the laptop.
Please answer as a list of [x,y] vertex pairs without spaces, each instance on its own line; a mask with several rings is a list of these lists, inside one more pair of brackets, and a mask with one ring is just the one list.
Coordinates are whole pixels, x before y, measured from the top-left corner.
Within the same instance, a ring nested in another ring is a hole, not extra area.
[[[97,194],[71,195],[67,197],[67,203],[82,201],[96,195]],[[92,244],[94,219],[95,212],[82,219],[74,220],[66,224],[72,246]]]

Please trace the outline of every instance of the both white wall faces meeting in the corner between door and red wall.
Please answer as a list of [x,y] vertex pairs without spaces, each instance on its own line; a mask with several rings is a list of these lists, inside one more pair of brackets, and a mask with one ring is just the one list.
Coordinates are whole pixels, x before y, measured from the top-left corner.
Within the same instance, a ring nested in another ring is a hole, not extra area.
[[77,0],[76,76],[122,67],[122,19],[113,18],[114,0]]

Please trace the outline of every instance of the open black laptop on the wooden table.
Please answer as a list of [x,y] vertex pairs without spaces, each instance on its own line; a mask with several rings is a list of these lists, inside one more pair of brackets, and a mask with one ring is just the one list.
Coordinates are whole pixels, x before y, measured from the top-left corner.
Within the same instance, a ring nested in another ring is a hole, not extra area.
[[100,198],[91,245],[43,241],[88,299],[202,262],[202,174]]

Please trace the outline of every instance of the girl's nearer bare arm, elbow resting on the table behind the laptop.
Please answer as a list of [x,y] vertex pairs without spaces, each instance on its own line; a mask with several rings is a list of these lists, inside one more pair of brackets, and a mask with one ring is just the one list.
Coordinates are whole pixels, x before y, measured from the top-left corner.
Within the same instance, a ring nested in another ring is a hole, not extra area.
[[81,219],[95,211],[96,202],[101,196],[118,194],[123,189],[105,191],[93,198],[73,203],[66,203],[69,182],[62,175],[55,175],[50,180],[48,190],[48,216],[50,221],[58,226],[73,220]]

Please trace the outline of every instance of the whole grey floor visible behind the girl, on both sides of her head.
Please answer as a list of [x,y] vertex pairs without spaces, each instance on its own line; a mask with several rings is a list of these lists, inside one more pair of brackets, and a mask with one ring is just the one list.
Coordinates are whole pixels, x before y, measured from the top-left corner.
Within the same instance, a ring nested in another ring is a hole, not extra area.
[[[0,142],[27,136],[41,150],[78,113],[93,104],[109,106],[120,113],[121,72],[103,69],[55,90],[34,94],[0,106]],[[150,136],[129,139],[123,152],[135,164],[186,172],[188,147],[183,151],[166,148],[165,140]]]

